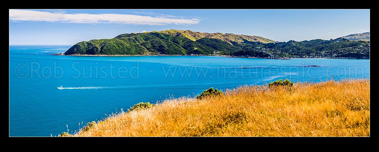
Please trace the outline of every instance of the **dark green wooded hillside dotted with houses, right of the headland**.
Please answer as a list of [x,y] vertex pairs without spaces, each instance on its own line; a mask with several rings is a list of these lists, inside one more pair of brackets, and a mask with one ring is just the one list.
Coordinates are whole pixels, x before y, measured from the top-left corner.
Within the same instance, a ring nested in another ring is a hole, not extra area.
[[370,58],[370,42],[349,41],[345,38],[311,41],[288,41],[263,44],[245,40],[235,56],[260,58]]

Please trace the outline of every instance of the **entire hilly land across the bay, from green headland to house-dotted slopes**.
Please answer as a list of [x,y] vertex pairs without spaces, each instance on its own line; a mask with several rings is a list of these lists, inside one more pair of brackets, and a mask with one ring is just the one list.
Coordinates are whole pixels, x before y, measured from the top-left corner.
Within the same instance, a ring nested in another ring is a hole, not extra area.
[[82,41],[70,47],[64,55],[231,55],[259,58],[360,59],[370,58],[370,41],[337,38],[274,42],[230,33],[165,30]]

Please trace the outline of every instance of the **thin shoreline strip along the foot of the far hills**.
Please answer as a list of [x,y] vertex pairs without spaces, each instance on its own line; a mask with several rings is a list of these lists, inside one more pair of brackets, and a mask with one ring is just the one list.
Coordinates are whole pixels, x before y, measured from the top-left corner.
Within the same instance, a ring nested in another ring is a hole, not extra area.
[[[51,54],[51,55],[64,55],[63,53]],[[230,56],[230,55],[64,55],[64,56],[223,56],[229,58],[258,58],[258,57],[238,57],[238,56]],[[259,58],[259,59],[273,59],[273,60],[290,60],[290,59],[349,59],[349,58]],[[363,58],[361,58],[363,59]],[[352,59],[352,60],[360,60],[360,59]],[[370,59],[363,59],[370,60]]]

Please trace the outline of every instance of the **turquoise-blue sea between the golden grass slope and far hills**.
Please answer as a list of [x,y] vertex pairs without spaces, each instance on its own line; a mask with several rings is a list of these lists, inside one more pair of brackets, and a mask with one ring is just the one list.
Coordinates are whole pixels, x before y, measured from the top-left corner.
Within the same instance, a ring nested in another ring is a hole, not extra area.
[[50,55],[69,47],[9,46],[9,136],[74,133],[136,103],[196,96],[210,87],[370,77],[370,60]]

